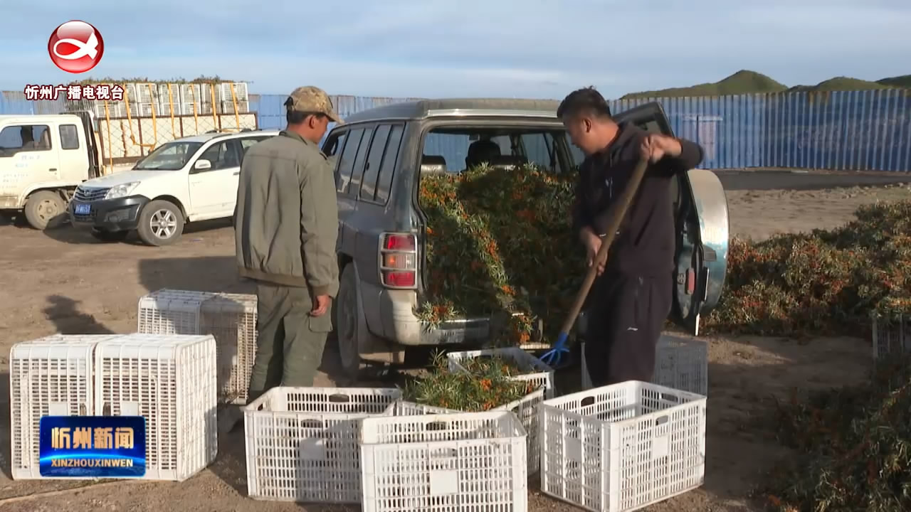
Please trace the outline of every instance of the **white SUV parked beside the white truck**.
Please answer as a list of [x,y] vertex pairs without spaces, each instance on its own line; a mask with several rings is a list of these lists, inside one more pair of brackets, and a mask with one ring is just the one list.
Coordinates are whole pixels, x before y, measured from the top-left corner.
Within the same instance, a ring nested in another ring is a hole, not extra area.
[[136,230],[148,245],[173,243],[187,222],[234,214],[243,155],[278,134],[206,133],[162,144],[133,169],[79,185],[70,220],[101,241],[122,241]]

